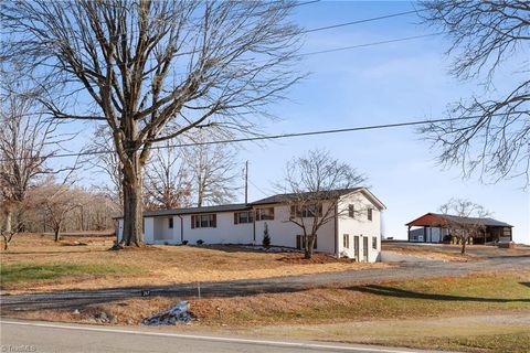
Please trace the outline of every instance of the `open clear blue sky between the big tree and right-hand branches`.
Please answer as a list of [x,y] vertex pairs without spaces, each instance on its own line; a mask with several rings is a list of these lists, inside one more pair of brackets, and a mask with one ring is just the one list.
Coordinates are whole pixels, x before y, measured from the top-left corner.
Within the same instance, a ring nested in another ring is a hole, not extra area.
[[[296,9],[295,21],[306,29],[412,10],[411,2],[328,2]],[[415,14],[307,34],[304,52],[433,33]],[[289,100],[272,107],[280,118],[263,127],[268,133],[346,128],[424,118],[443,118],[448,103],[479,93],[479,82],[460,82],[447,74],[448,42],[441,36],[308,56],[311,74],[294,87]],[[508,67],[509,68],[509,67]],[[499,75],[496,88],[510,85]],[[84,138],[89,138],[87,133]],[[81,143],[80,139],[77,143]],[[76,145],[77,145],[76,143]],[[80,145],[81,146],[81,145]],[[436,212],[451,197],[483,204],[494,217],[515,226],[517,242],[530,243],[530,194],[522,180],[481,184],[463,180],[458,169],[443,170],[435,152],[412,128],[359,131],[245,143],[241,167],[250,161],[250,200],[273,193],[286,161],[312,148],[328,149],[369,178],[385,204],[384,234],[406,237],[404,224]],[[97,183],[92,176],[86,183]],[[242,179],[243,186],[243,179]],[[239,201],[243,201],[243,188]]]

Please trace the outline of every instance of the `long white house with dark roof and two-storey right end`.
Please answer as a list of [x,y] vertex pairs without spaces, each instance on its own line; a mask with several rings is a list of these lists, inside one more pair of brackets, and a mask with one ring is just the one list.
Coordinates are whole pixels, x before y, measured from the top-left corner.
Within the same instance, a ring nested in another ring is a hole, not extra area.
[[[381,250],[381,212],[385,208],[368,189],[341,190],[338,202],[321,200],[320,207],[336,204],[331,221],[317,232],[315,252],[377,261]],[[268,228],[272,245],[301,248],[301,228],[289,221],[290,206],[279,194],[250,204],[174,208],[144,213],[147,244],[261,244]],[[123,235],[118,218],[117,236]]]

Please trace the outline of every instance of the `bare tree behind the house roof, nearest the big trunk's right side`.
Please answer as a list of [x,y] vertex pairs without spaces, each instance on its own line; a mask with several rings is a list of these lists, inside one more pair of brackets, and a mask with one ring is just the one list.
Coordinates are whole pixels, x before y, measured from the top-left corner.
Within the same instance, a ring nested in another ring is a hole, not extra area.
[[147,203],[153,208],[187,207],[191,201],[191,181],[182,158],[183,151],[166,141],[152,153],[146,168]]

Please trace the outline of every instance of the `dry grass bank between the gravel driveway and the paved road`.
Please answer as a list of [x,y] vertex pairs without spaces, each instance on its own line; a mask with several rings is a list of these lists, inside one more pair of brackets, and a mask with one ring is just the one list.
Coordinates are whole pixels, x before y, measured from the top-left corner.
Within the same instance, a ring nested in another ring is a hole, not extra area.
[[[234,330],[268,328],[266,330],[277,332],[278,330],[274,328],[284,324],[301,325],[306,331],[310,331],[314,324],[384,322],[384,320],[399,322],[477,314],[527,315],[530,313],[528,300],[530,288],[523,284],[528,280],[530,271],[526,270],[380,285],[381,288],[396,289],[395,296],[365,291],[363,290],[365,286],[336,285],[285,293],[188,299],[192,314],[199,319],[194,327]],[[400,296],[402,291],[410,295]],[[128,319],[138,323],[153,313],[167,310],[179,300],[163,297],[136,298],[87,304],[78,308],[78,314],[73,313],[75,308],[14,314],[28,319],[93,322],[97,312],[105,311],[117,317],[118,323],[127,323]],[[218,308],[221,309],[221,317],[218,317]]]

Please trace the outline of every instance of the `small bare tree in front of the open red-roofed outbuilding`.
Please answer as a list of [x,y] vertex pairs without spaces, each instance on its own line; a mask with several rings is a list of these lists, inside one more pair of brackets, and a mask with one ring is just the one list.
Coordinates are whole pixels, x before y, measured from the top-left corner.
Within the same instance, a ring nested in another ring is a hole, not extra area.
[[466,253],[466,244],[470,238],[486,232],[483,218],[489,216],[489,212],[469,200],[452,199],[439,207],[439,212],[445,215],[444,227],[462,244],[462,254]]

